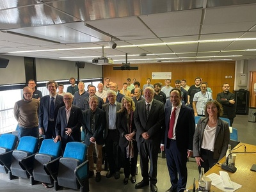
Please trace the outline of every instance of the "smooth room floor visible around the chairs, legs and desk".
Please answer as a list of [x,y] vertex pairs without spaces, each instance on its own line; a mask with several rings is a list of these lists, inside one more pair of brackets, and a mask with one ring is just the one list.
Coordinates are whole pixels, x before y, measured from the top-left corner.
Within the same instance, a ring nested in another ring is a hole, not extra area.
[[[248,122],[247,115],[237,115],[234,120],[233,126],[237,128],[238,139],[243,143],[250,143],[256,145],[256,123]],[[122,171],[122,170],[121,170]],[[158,159],[158,171],[157,171],[157,188],[159,192],[164,192],[166,189],[170,188],[170,177],[168,174],[168,169],[166,166],[166,159],[161,158],[159,154]],[[137,182],[140,182],[141,175],[136,176]],[[191,186],[193,179],[198,179],[198,169],[195,163],[195,159],[189,159],[188,162],[188,184],[187,187]],[[102,172],[102,180],[100,182],[95,182],[95,178],[90,179],[90,191],[92,192],[104,192],[104,191],[150,191],[149,187],[143,189],[134,189],[135,184],[130,181],[127,185],[123,184],[124,173],[121,173],[121,177],[115,180],[114,177],[109,179],[106,178],[106,171]],[[137,183],[136,182],[136,183]],[[38,183],[33,186],[29,185],[29,179],[13,179],[9,180],[8,175],[0,173],[0,191],[19,191],[19,192],[29,192],[29,191],[53,191],[53,188],[46,189],[42,184]],[[60,191],[79,191],[67,188],[61,188]]]

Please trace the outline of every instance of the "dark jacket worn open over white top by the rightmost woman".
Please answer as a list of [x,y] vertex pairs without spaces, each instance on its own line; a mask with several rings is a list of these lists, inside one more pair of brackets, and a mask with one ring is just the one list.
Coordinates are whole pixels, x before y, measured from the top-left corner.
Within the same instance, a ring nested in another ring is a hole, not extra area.
[[[204,137],[204,129],[209,118],[200,118],[193,139],[193,156],[199,157],[201,145]],[[213,158],[218,161],[226,155],[228,144],[230,140],[230,132],[228,123],[218,118],[218,125],[216,127],[216,134],[214,139]]]

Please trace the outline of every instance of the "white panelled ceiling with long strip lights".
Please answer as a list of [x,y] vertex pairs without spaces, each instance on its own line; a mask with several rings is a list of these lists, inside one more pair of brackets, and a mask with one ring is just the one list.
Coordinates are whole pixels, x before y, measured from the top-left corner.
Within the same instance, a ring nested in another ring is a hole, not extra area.
[[116,64],[125,53],[131,63],[252,60],[255,10],[252,0],[0,0],[0,54],[92,62],[104,46]]

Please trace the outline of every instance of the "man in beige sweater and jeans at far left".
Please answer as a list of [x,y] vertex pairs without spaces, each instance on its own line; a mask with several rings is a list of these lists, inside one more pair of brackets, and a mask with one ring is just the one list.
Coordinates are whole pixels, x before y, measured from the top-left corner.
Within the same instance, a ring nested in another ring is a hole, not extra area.
[[39,100],[32,98],[33,90],[23,88],[24,99],[15,102],[13,113],[19,123],[18,136],[34,136],[38,138],[38,110]]

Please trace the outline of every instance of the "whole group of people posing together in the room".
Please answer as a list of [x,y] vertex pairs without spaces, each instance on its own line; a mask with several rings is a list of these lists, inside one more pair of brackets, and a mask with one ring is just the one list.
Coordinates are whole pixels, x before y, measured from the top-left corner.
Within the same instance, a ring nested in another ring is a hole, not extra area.
[[[106,177],[119,179],[120,168],[123,167],[124,184],[129,182],[130,175],[131,182],[135,183],[140,153],[143,179],[135,188],[150,184],[151,191],[157,191],[157,157],[160,147],[166,153],[172,184],[166,192],[181,191],[186,188],[188,157],[194,156],[199,170],[204,167],[206,172],[225,156],[229,129],[228,124],[219,117],[223,113],[230,113],[228,108],[234,105],[234,98],[227,83],[223,84],[223,92],[218,94],[217,100],[212,100],[210,92],[207,92],[207,84],[202,83],[201,79],[198,84],[197,77],[197,85],[189,89],[184,79],[175,81],[175,88],[170,86],[170,79],[166,79],[164,88],[161,88],[160,83],[152,85],[150,81],[148,78],[141,90],[136,79],[131,83],[128,78],[127,83],[123,84],[123,95],[118,91],[118,85],[109,78],[105,85],[98,84],[98,91],[93,85],[85,91],[84,83],[80,81],[77,86],[76,79],[72,77],[67,93],[63,93],[63,88],[59,88],[57,93],[56,81],[48,81],[46,87],[49,95],[42,97],[42,93],[40,95],[35,90],[35,81],[31,79],[23,89],[24,99],[15,103],[19,138],[25,135],[38,137],[41,134],[44,138],[53,138],[54,142],[60,140],[62,150],[65,150],[67,142],[81,141],[83,127],[84,143],[88,146],[90,177],[94,175],[95,150],[95,180],[101,180],[102,147],[105,145],[109,164]],[[31,82],[34,89],[30,86]],[[200,91],[195,88],[200,88]],[[36,98],[36,95],[39,96]],[[197,106],[200,101],[205,102],[204,106]],[[190,103],[193,103],[193,107],[189,107]],[[197,110],[202,112],[198,113]],[[195,129],[195,115],[198,114],[202,118]]]

